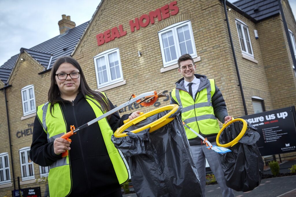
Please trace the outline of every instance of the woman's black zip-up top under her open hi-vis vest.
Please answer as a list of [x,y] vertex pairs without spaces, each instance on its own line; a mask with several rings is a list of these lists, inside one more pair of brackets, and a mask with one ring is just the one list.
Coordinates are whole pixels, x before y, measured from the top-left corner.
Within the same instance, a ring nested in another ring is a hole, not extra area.
[[[113,104],[109,100],[111,109]],[[76,128],[96,118],[91,106],[79,93],[74,101],[61,101],[60,106],[70,131],[70,125]],[[115,131],[123,124],[128,115],[120,118],[113,113],[108,120]],[[112,162],[102,137],[99,125],[94,123],[71,136],[70,165],[72,176],[72,191],[70,196],[105,196],[120,189]],[[33,142],[30,158],[41,166],[49,166],[61,154],[56,155],[53,142],[47,142],[46,133],[36,116],[33,128]]]

